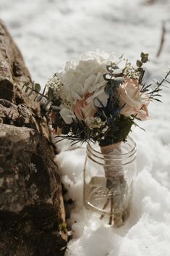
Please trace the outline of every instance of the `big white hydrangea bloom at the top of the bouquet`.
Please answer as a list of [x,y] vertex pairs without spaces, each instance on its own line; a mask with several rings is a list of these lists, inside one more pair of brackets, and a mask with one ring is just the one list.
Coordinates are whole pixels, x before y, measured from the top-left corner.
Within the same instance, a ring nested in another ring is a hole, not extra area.
[[[82,54],[80,59],[67,62],[64,70],[57,75],[63,81],[61,99],[64,102],[76,102],[85,94],[98,94],[106,105],[108,96],[103,91],[107,81],[103,75],[107,73],[106,65],[113,61],[113,56],[103,51],[89,51]],[[102,94],[101,94],[102,91]]]

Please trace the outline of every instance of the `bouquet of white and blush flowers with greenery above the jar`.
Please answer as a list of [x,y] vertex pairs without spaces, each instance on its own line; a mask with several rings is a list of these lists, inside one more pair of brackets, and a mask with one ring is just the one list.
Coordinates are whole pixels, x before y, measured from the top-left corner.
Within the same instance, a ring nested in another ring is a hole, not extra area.
[[[132,125],[137,125],[136,120],[150,118],[148,104],[151,100],[160,101],[161,86],[169,75],[154,87],[145,84],[145,62],[148,54],[143,52],[133,66],[128,59],[103,51],[90,51],[78,61],[67,62],[64,70],[48,80],[41,94],[47,104],[51,103],[48,113],[57,136],[72,140],[72,144],[98,142],[103,154],[118,149]],[[38,84],[33,90],[40,90]],[[126,181],[109,167],[105,173],[108,188],[115,176],[115,186],[119,178],[126,186]],[[117,200],[114,205],[119,205]]]

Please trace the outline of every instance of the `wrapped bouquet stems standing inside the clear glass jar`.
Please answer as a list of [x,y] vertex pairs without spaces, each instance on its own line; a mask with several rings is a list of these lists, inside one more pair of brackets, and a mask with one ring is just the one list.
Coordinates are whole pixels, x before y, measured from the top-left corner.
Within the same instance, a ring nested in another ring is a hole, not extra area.
[[[114,226],[122,226],[124,220],[127,219],[128,212],[124,209],[124,194],[127,190],[127,181],[124,178],[124,171],[122,168],[122,161],[116,161],[116,165],[113,165],[113,155],[119,155],[122,153],[122,142],[117,144],[111,144],[109,146],[101,146],[101,153],[105,160],[105,176],[106,187],[111,193],[109,193],[109,199],[106,199],[103,210],[110,205],[109,224],[114,221]],[[104,213],[101,215],[103,218]]]

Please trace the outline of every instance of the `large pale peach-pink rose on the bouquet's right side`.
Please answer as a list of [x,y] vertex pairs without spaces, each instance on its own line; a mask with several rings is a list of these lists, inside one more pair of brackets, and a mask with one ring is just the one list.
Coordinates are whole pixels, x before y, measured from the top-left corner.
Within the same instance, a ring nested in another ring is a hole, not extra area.
[[126,117],[135,115],[140,120],[146,120],[148,116],[148,104],[150,99],[147,94],[140,92],[140,84],[137,79],[127,79],[118,89],[120,94],[119,104],[122,107],[120,114]]

